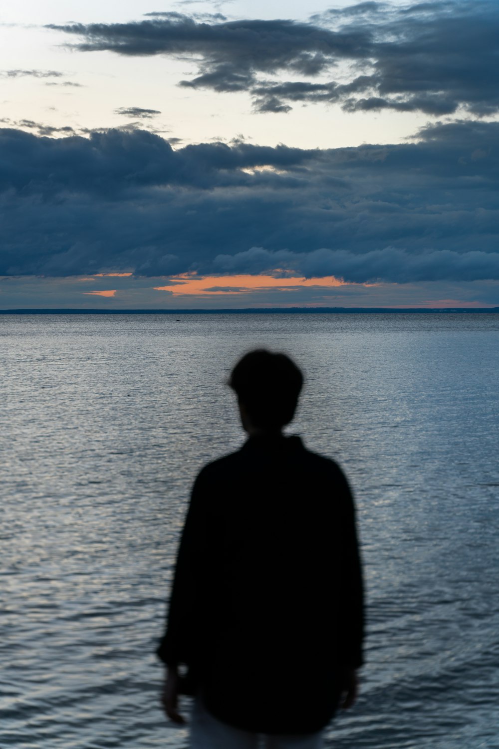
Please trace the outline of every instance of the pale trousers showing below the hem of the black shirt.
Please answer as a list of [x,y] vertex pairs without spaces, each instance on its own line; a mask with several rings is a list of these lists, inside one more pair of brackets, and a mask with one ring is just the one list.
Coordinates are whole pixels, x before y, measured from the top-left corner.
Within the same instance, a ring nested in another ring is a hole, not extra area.
[[192,706],[190,749],[322,749],[323,732],[296,735],[251,733],[214,718],[199,697]]

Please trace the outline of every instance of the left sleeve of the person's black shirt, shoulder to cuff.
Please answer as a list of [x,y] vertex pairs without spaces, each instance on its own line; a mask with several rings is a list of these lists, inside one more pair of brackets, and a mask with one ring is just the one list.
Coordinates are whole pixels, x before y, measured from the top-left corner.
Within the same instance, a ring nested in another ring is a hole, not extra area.
[[156,655],[169,667],[190,665],[195,659],[196,632],[200,624],[197,572],[204,557],[206,535],[204,476],[203,470],[192,489],[177,553],[166,631],[156,649]]

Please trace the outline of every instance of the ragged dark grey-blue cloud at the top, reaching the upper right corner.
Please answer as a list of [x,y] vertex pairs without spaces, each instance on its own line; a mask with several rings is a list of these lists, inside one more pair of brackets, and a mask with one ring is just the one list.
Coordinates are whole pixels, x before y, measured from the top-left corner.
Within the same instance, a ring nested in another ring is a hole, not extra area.
[[[308,23],[202,22],[159,13],[141,22],[49,28],[80,37],[74,46],[84,52],[190,57],[198,74],[180,85],[249,91],[260,112],[287,112],[290,102],[319,101],[349,112],[444,115],[463,107],[483,116],[499,109],[499,4],[491,0],[402,7],[364,2]],[[287,73],[305,79],[269,77]],[[310,80],[317,76],[320,82]]]

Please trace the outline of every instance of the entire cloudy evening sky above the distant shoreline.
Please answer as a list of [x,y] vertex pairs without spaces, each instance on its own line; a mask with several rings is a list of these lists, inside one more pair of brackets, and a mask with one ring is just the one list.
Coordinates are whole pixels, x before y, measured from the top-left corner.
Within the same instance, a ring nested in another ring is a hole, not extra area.
[[499,306],[499,3],[4,0],[0,309]]

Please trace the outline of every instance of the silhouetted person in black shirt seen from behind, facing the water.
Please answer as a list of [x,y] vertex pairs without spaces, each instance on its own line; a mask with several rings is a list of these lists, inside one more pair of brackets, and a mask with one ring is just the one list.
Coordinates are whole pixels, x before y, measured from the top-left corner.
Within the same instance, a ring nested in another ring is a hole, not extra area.
[[[303,377],[252,351],[230,376],[248,440],[198,475],[158,648],[162,704],[195,694],[192,749],[316,749],[362,664],[352,494],[334,461],[282,428]],[[187,667],[180,676],[179,667]]]

